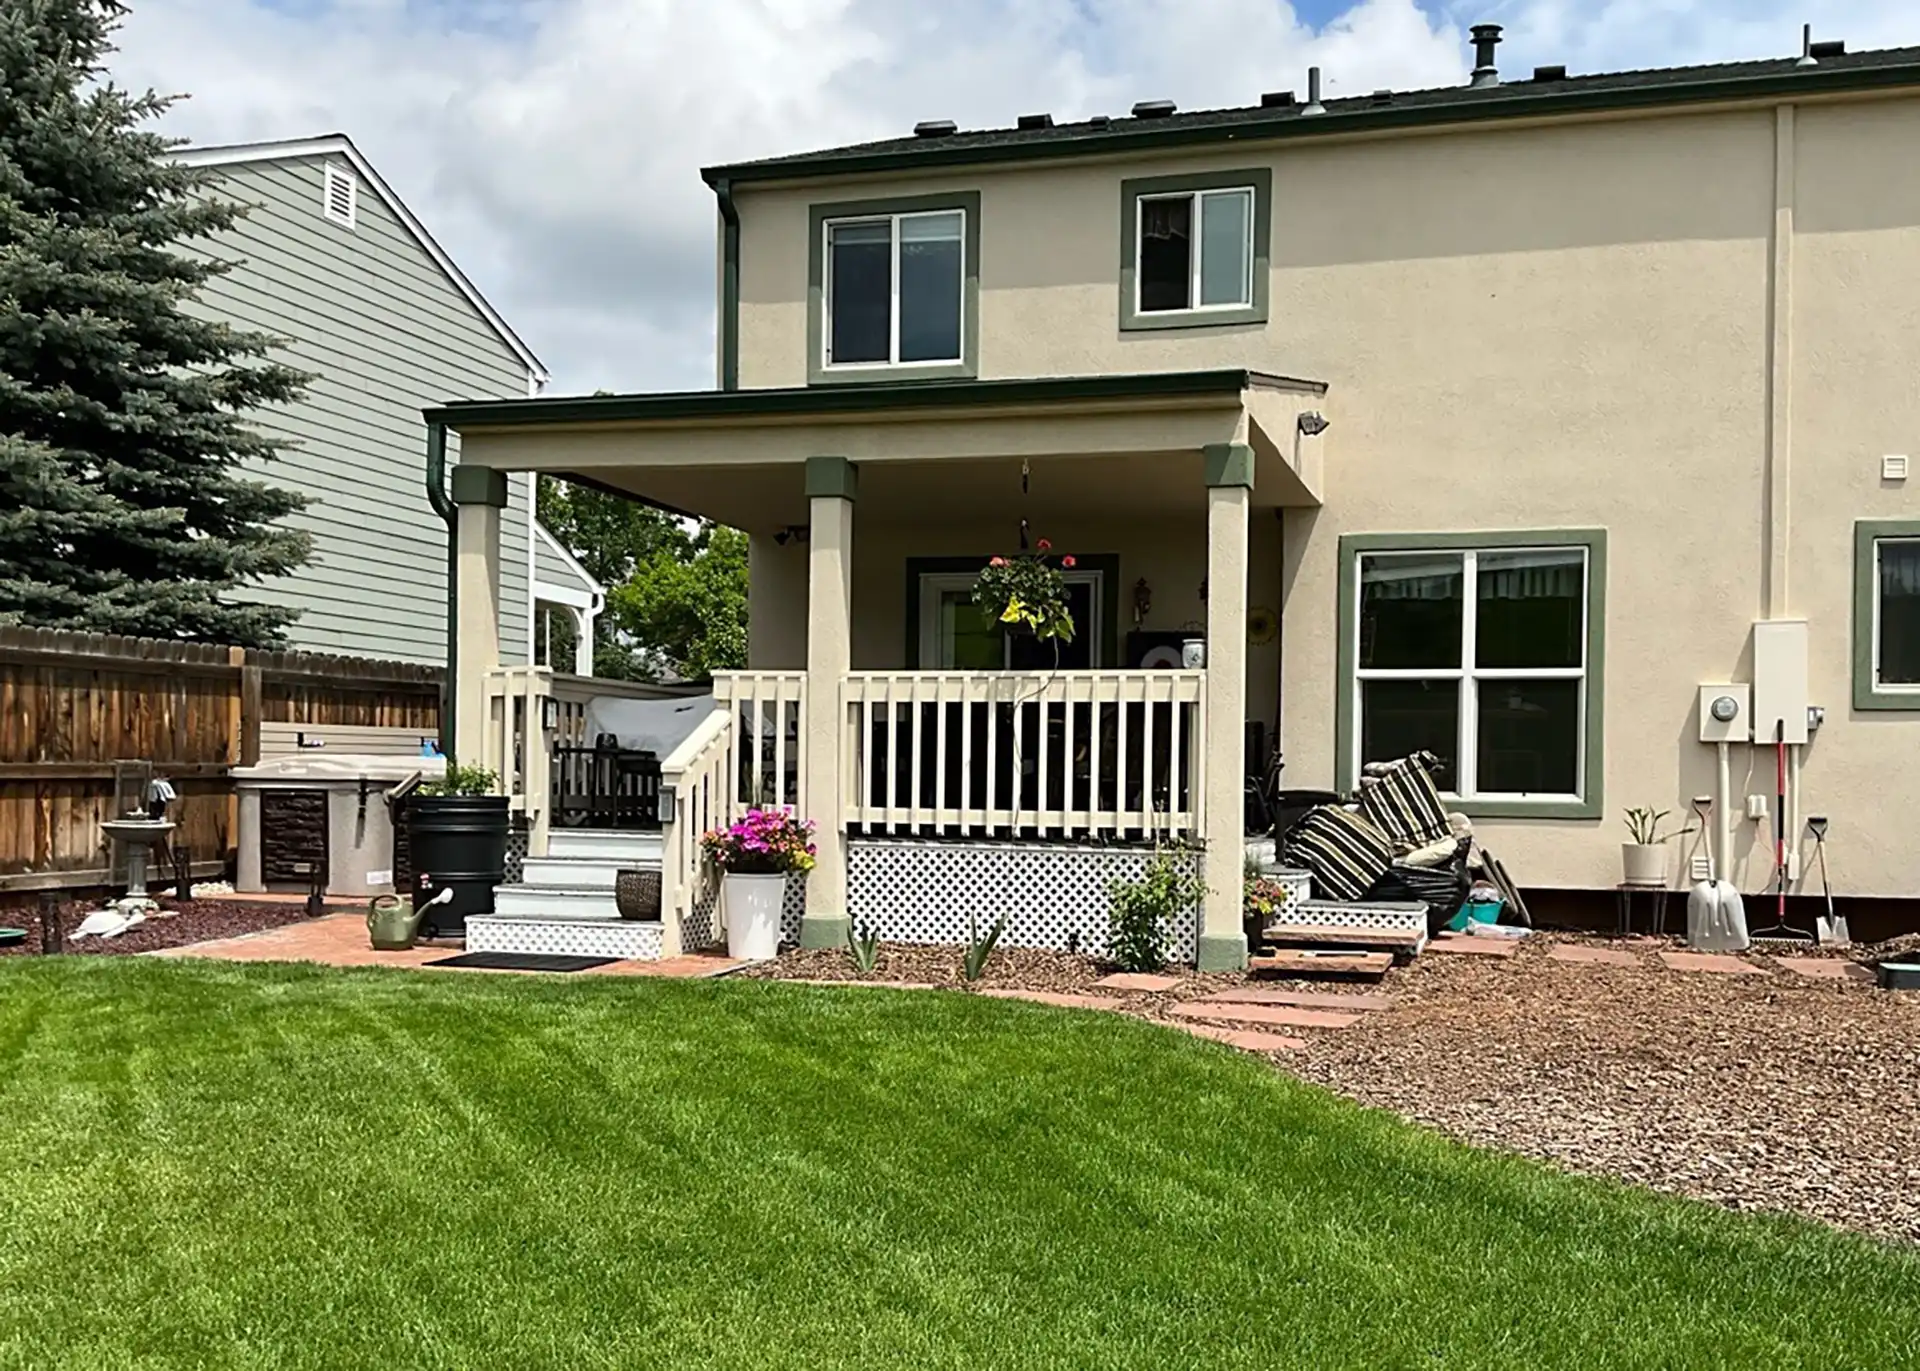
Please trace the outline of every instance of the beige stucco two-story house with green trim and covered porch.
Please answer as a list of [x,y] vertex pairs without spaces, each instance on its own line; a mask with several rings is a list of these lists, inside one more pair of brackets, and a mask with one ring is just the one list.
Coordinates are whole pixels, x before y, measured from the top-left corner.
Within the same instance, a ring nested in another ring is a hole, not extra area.
[[[1478,40],[1457,88],[714,167],[720,390],[428,415],[753,536],[755,703],[666,785],[724,816],[728,745],[818,820],[804,941],[1085,931],[1171,830],[1185,950],[1240,964],[1260,735],[1298,787],[1432,749],[1530,889],[1611,901],[1620,810],[1716,795],[1751,899],[1786,772],[1793,891],[1820,814],[1841,895],[1920,893],[1920,50],[1503,81]],[[1077,555],[1058,668],[968,603],[1021,528]]]

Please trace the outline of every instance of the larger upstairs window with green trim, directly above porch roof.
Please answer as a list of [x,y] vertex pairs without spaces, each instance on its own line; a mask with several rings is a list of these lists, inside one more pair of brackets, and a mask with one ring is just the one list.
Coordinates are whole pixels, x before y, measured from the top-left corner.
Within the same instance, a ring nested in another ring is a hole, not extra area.
[[972,376],[979,196],[814,205],[814,382]]

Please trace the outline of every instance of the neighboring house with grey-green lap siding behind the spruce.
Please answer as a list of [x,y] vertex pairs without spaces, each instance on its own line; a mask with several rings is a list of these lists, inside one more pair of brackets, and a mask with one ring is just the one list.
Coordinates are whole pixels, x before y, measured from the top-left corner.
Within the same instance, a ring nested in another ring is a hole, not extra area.
[[[284,338],[276,357],[315,376],[305,399],[257,421],[288,440],[259,476],[307,495],[290,522],[313,534],[313,559],[248,593],[300,611],[292,647],[444,662],[447,530],[426,497],[420,409],[449,396],[540,394],[540,359],[348,138],[177,157],[217,167],[215,194],[252,207],[211,246],[234,269],[200,307]],[[559,549],[543,555],[532,478],[507,488],[501,661],[526,662],[536,601],[591,613],[601,588]]]

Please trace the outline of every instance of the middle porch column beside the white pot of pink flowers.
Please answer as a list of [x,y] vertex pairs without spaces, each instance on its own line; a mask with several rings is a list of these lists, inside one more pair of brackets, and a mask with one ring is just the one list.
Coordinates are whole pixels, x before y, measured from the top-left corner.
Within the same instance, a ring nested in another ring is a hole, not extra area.
[[801,947],[845,947],[847,833],[841,822],[841,682],[852,664],[852,501],[858,467],[806,459],[806,808],[818,854],[806,878]]

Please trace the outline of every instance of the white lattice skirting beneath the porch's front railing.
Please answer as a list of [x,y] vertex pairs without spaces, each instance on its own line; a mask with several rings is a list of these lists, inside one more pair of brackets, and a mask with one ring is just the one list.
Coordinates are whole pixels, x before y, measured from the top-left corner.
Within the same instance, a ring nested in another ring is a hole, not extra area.
[[[1004,914],[1008,947],[1104,952],[1108,885],[1139,879],[1152,858],[1137,847],[854,839],[847,912],[891,943],[964,943]],[[1185,860],[1198,866],[1198,854]],[[1175,918],[1171,933],[1173,958],[1190,962],[1198,912]]]

